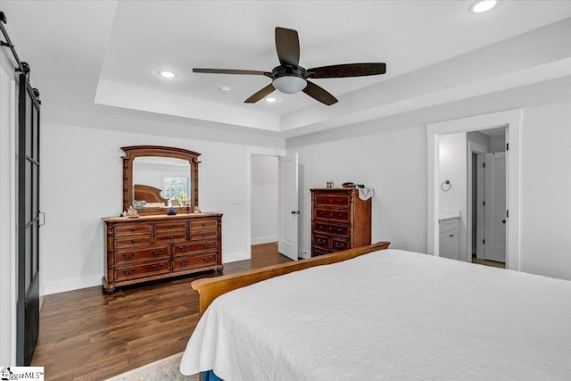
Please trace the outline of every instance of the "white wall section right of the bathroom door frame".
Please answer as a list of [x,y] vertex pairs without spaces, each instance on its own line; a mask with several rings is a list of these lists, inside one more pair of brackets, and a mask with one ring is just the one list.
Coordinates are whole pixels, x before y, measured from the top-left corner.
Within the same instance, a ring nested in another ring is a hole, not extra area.
[[524,109],[521,269],[571,279],[571,100]]

